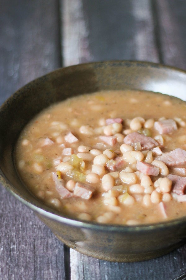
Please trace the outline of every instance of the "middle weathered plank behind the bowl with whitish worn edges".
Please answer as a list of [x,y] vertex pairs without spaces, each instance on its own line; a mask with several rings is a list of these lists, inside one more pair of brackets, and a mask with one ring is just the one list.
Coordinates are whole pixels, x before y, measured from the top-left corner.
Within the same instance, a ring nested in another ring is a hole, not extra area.
[[64,65],[108,59],[158,62],[149,0],[61,2]]

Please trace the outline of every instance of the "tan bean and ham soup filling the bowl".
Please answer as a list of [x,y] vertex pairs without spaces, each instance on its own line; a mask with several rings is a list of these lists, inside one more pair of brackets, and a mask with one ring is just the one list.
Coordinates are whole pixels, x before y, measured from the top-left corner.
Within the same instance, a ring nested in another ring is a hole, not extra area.
[[186,103],[148,91],[69,98],[37,115],[15,149],[46,205],[100,223],[144,224],[186,211]]

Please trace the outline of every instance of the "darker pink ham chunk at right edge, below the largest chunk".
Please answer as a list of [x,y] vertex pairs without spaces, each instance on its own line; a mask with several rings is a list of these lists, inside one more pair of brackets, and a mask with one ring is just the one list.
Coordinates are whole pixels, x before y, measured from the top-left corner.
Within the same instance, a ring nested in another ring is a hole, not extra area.
[[184,194],[186,189],[186,177],[169,174],[167,176],[172,181],[172,192],[175,194]]

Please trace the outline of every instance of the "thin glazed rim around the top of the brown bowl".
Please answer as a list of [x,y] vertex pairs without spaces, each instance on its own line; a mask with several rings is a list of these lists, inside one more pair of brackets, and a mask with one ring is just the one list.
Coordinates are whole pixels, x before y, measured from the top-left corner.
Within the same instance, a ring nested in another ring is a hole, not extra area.
[[[162,63],[154,63],[154,62],[148,62],[148,61],[140,61],[140,60],[105,60],[105,61],[96,61],[96,62],[88,62],[88,63],[80,63],[75,65],[70,65],[66,67],[57,68],[51,72],[48,72],[47,74],[37,77],[34,80],[26,83],[24,86],[19,88],[17,91],[15,91],[11,96],[9,96],[0,106],[0,112],[3,110],[3,108],[7,105],[9,101],[14,98],[16,94],[18,94],[20,91],[24,91],[28,85],[32,86],[34,83],[39,82],[40,79],[47,77],[55,72],[63,71],[63,69],[77,69],[82,67],[87,67],[88,65],[110,65],[112,66],[113,63],[117,63],[118,65],[121,63],[121,65],[127,65],[130,64],[131,66],[143,66],[143,67],[154,67],[154,68],[161,68],[161,69],[169,69],[173,70],[179,73],[182,73],[186,75],[186,71],[177,67],[165,65]],[[186,102],[186,101],[185,101]],[[85,229],[91,229],[91,230],[101,230],[101,231],[114,231],[114,232],[144,232],[144,231],[154,231],[164,228],[172,228],[176,225],[181,225],[184,222],[186,222],[186,215],[183,217],[171,219],[168,221],[162,221],[162,222],[156,222],[156,223],[148,223],[148,224],[138,224],[138,225],[122,225],[122,224],[111,224],[111,223],[98,223],[94,221],[84,221],[80,220],[78,218],[73,218],[68,215],[62,215],[62,213],[46,206],[41,201],[39,201],[31,192],[30,195],[32,195],[35,202],[39,205],[36,205],[35,203],[31,203],[28,200],[26,200],[23,196],[21,196],[21,193],[19,191],[14,191],[15,187],[14,185],[8,180],[6,175],[3,173],[2,169],[0,168],[0,183],[7,189],[8,192],[10,192],[16,199],[18,199],[21,203],[26,205],[28,208],[32,209],[34,212],[44,216],[48,217],[52,220],[55,220],[57,222],[62,222],[64,224],[75,226],[75,227],[81,227]],[[28,190],[28,189],[27,189]],[[29,190],[28,190],[29,191]]]

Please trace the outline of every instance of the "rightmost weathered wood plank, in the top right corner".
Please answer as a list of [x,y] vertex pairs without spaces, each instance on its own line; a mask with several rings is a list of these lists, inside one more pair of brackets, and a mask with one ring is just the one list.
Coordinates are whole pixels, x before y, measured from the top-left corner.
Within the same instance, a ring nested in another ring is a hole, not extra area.
[[162,63],[186,70],[186,3],[157,0],[156,8]]

